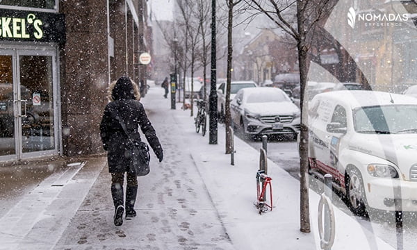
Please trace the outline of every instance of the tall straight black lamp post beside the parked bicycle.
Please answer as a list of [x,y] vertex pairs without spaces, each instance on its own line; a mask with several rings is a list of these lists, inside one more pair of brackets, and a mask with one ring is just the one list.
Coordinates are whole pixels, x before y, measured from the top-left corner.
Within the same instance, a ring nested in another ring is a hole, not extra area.
[[211,1],[211,83],[210,83],[210,124],[208,133],[208,143],[218,144],[218,124],[217,124],[217,92],[215,91],[216,83],[216,47],[215,47],[215,0]]

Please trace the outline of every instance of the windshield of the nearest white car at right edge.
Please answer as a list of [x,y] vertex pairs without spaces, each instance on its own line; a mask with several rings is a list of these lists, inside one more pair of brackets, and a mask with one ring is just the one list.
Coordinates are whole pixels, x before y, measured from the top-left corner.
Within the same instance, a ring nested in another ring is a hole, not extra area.
[[358,108],[353,119],[358,133],[417,133],[417,105]]

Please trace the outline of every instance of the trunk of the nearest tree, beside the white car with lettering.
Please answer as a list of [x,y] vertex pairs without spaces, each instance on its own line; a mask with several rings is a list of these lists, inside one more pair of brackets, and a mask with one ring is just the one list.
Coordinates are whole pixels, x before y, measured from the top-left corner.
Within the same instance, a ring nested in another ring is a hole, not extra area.
[[300,67],[300,108],[302,110],[300,128],[300,231],[310,233],[310,211],[309,211],[309,128],[308,128],[308,100],[304,100],[307,80],[307,51],[304,4],[297,0],[297,24],[298,24],[298,62]]

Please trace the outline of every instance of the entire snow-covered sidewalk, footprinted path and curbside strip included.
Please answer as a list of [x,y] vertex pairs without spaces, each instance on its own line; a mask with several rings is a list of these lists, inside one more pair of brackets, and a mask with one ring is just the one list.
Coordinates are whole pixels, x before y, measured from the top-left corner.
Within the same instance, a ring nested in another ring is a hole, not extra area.
[[[52,174],[0,218],[0,249],[320,249],[319,196],[310,192],[311,233],[300,232],[299,182],[272,161],[271,212],[259,215],[259,151],[235,138],[235,165],[218,145],[195,133],[190,110],[170,110],[162,88],[142,100],[165,158],[152,155],[139,178],[138,217],[113,225],[106,158],[88,158]],[[85,165],[83,165],[85,162]],[[335,208],[332,249],[393,249],[354,217]]]

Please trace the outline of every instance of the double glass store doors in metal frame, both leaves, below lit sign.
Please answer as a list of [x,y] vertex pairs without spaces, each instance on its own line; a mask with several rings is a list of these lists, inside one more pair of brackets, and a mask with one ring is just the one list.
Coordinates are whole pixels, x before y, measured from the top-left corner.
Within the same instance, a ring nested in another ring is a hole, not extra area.
[[56,51],[0,50],[0,160],[58,153]]

